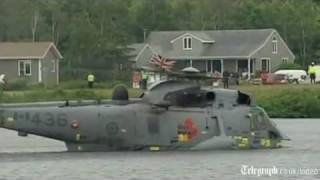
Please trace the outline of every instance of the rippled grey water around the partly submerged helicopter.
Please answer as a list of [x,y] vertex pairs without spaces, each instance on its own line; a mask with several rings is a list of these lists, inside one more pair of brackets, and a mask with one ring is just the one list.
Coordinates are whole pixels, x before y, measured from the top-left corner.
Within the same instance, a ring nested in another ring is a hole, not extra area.
[[[320,169],[320,119],[277,119],[292,141],[274,150],[67,153],[64,144],[0,130],[0,180],[11,179],[257,179],[254,168]],[[270,179],[263,176],[259,179]],[[272,175],[271,179],[319,179],[320,175]]]

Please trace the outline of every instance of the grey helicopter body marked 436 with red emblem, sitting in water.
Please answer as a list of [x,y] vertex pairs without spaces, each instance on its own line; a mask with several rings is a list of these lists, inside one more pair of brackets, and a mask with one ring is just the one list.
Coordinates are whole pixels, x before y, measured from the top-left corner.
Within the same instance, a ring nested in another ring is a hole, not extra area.
[[100,103],[2,105],[0,127],[68,151],[261,149],[287,139],[249,95],[190,81],[159,82],[137,99],[119,86]]

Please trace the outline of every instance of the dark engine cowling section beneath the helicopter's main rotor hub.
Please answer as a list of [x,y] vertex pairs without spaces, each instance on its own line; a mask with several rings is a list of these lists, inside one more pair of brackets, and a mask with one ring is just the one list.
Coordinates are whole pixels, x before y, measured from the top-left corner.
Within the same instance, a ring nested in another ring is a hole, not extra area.
[[168,93],[164,98],[173,106],[180,107],[205,107],[214,99],[214,92],[206,91],[176,91]]

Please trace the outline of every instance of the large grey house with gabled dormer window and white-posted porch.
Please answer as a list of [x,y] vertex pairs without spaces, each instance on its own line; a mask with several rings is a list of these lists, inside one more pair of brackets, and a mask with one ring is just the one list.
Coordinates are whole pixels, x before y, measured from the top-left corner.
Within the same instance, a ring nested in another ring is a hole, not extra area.
[[143,44],[130,46],[134,68],[150,66],[154,54],[176,61],[175,70],[191,66],[204,73],[273,72],[295,56],[274,29],[155,31]]

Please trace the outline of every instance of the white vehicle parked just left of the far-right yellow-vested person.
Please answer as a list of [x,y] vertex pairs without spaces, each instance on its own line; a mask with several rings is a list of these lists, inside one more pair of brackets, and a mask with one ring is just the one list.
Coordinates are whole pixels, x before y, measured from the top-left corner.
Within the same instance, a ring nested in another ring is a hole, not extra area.
[[305,70],[300,70],[300,69],[278,70],[274,74],[287,75],[289,83],[295,82],[297,84],[306,81],[308,76]]

